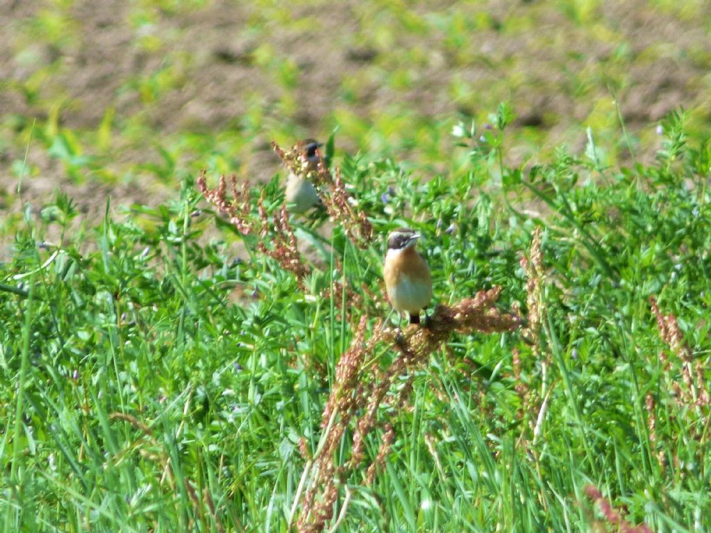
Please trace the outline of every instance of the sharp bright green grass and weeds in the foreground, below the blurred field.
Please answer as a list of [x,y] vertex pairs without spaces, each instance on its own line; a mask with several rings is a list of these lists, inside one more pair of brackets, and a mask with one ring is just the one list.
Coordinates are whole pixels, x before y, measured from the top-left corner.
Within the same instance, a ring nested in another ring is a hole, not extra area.
[[[438,302],[500,285],[501,308],[523,313],[520,258],[542,227],[540,335],[456,335],[434,352],[407,409],[380,410],[392,451],[372,486],[364,468],[344,480],[341,530],[616,530],[604,529],[589,484],[633,524],[710,529],[710,405],[685,397],[649,298],[676,317],[707,387],[711,146],[685,138],[680,113],[652,166],[606,167],[611,143],[591,137],[582,154],[508,168],[510,117],[502,105],[491,117],[501,129],[458,126],[464,146],[439,161],[456,172],[430,181],[336,151],[378,239],[359,251],[341,227],[322,239],[294,220],[319,245],[310,294],[256,237],[213,215],[191,173],[158,208],[107,203],[103,220],[78,223],[59,195],[43,216],[28,212],[0,264],[4,531],[286,531],[306,463],[299,439],[316,450],[361,313],[368,328],[387,314],[321,295],[334,276],[378,294],[383,235],[405,224],[425,235]],[[277,183],[265,191],[277,205]],[[377,355],[385,368],[395,352]],[[381,434],[368,437],[370,459]]]

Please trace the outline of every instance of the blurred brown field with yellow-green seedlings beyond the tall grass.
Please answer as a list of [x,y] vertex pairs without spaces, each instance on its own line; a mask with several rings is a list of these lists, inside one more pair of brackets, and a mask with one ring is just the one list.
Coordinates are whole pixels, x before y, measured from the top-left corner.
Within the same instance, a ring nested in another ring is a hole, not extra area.
[[[711,2],[0,1],[0,209],[175,198],[200,168],[267,181],[272,139],[456,172],[451,130],[508,100],[507,162],[648,161],[711,117]],[[22,180],[21,197],[17,194]]]

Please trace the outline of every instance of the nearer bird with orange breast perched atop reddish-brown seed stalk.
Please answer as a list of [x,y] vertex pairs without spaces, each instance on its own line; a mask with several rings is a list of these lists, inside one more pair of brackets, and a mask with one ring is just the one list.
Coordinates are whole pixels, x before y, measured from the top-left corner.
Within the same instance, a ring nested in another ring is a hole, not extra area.
[[405,228],[390,232],[383,266],[387,298],[395,311],[410,315],[411,324],[419,324],[419,311],[432,299],[429,266],[415,249],[420,237],[419,233]]

